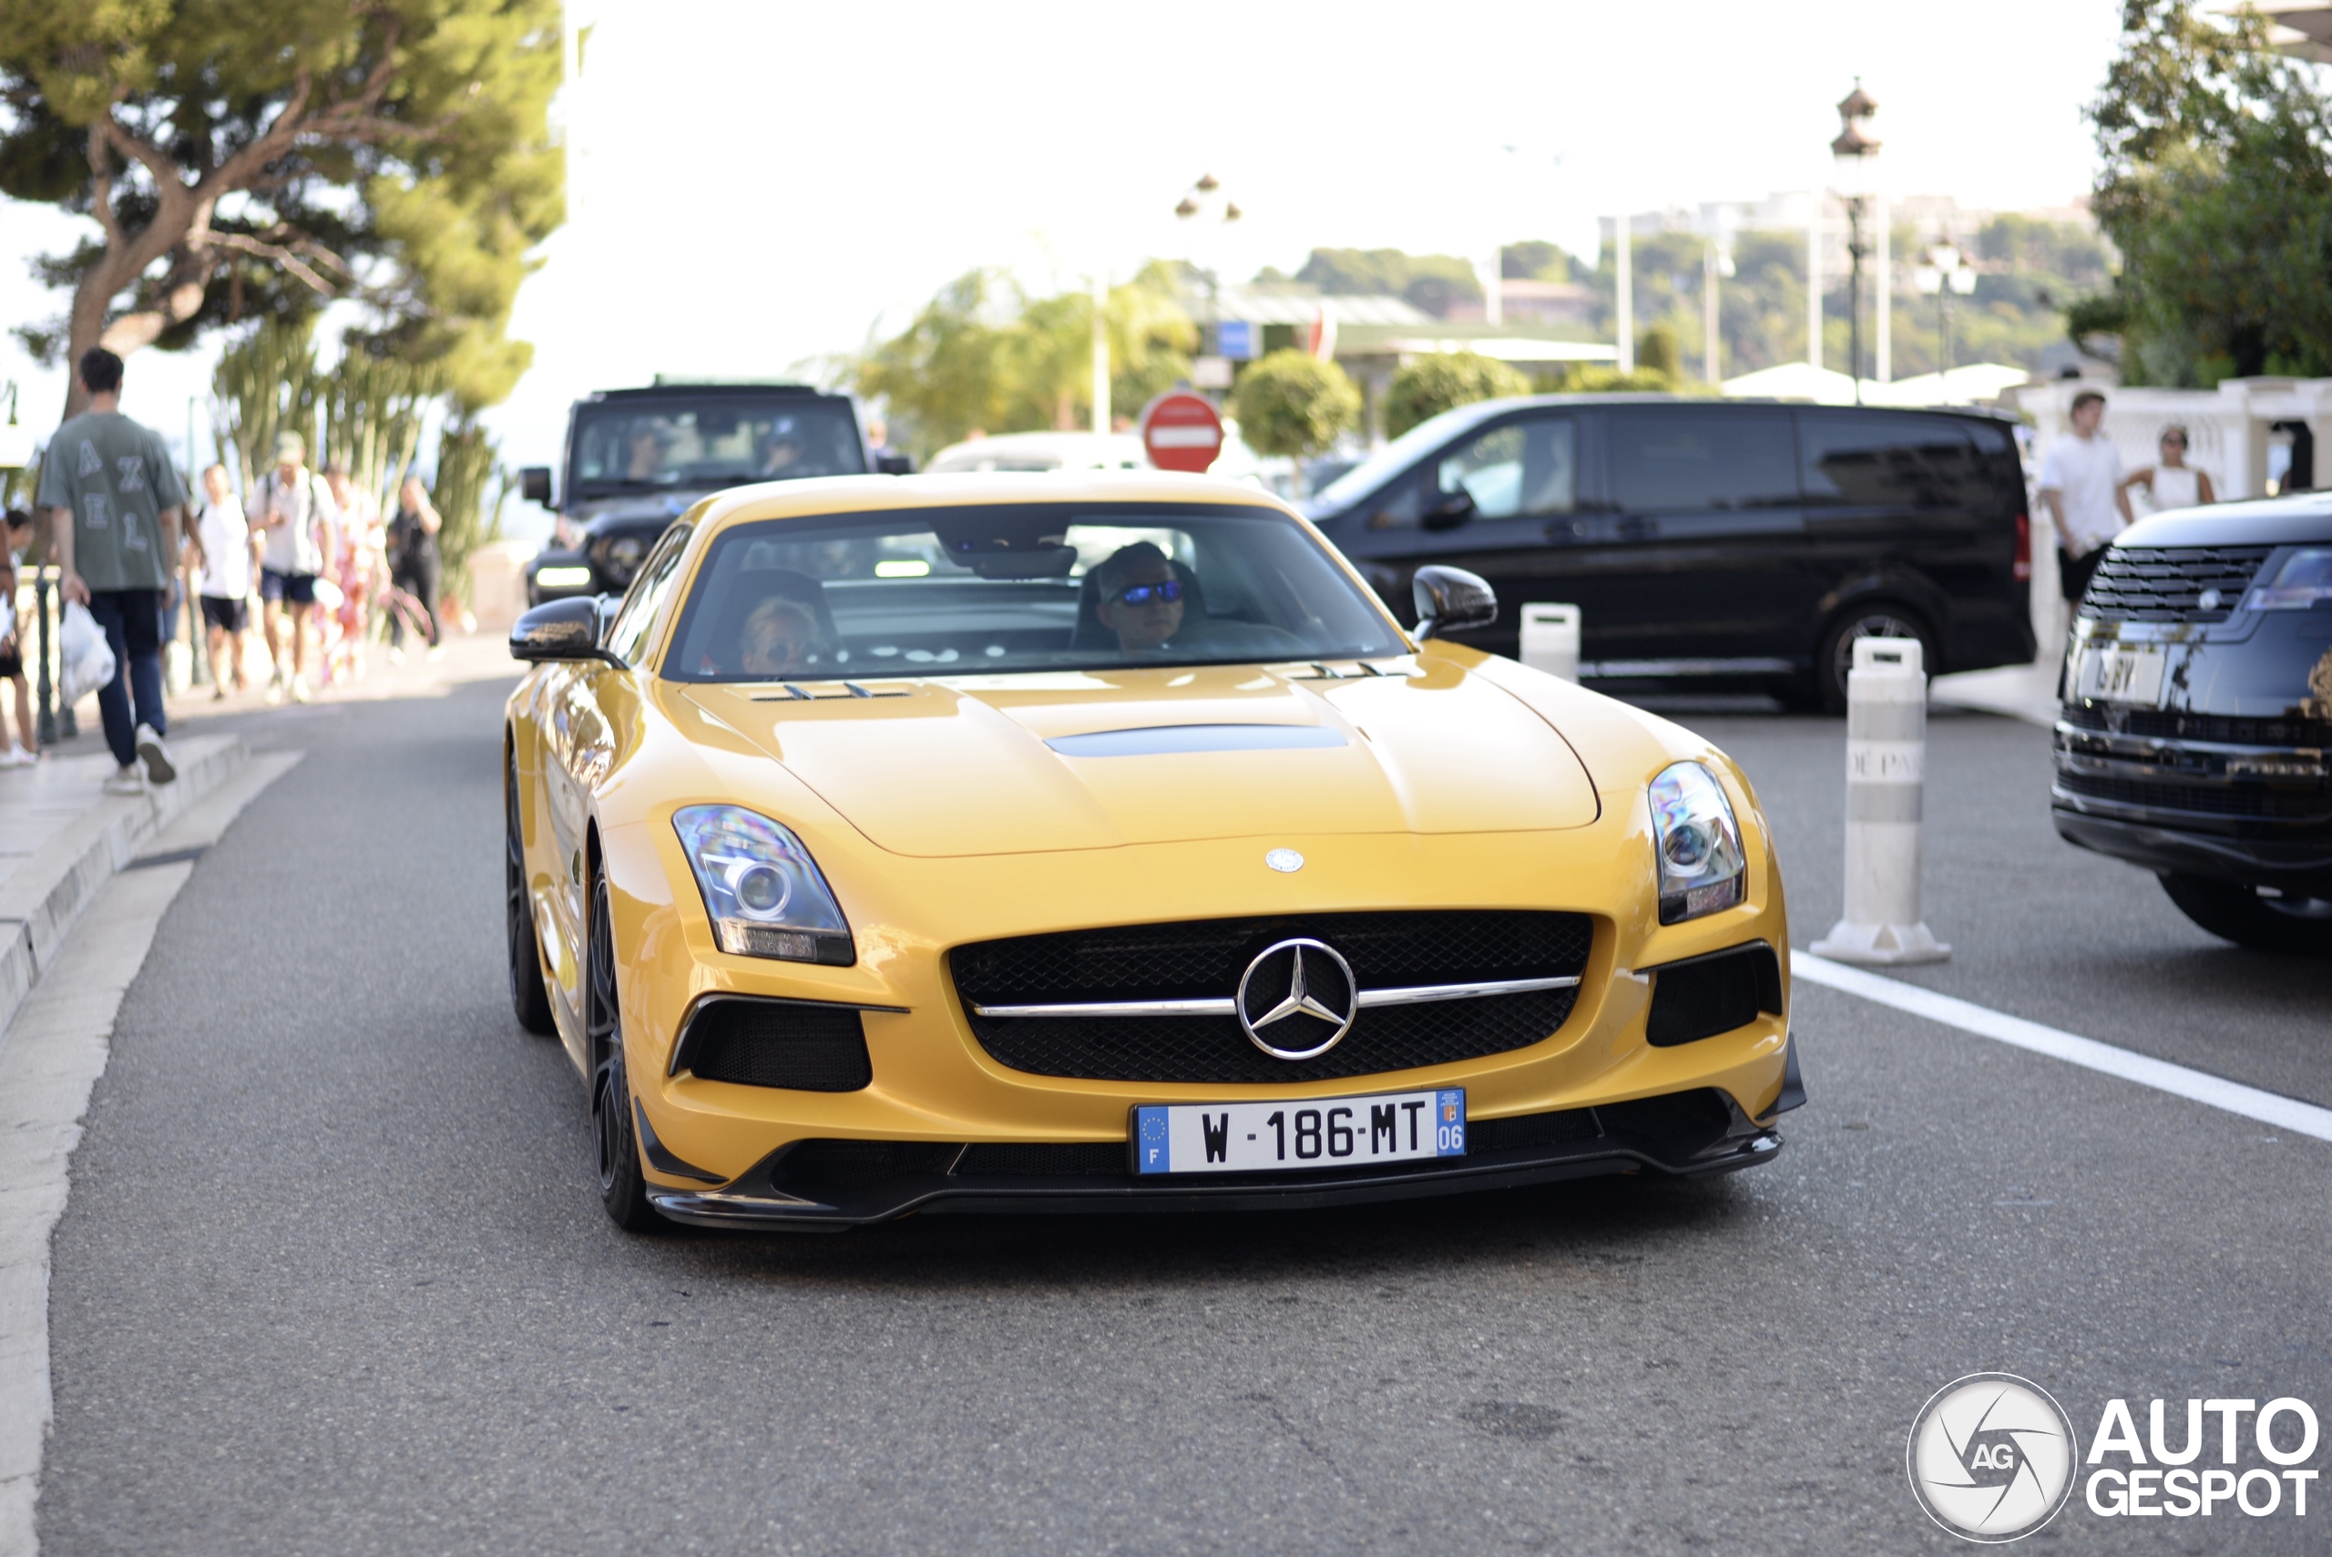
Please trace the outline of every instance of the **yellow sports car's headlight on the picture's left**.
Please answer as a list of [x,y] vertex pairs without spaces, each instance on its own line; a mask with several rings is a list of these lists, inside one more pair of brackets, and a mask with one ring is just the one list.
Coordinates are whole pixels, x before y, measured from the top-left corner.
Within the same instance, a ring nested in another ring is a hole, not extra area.
[[744,806],[681,806],[672,825],[721,951],[833,967],[858,960],[842,907],[793,832]]

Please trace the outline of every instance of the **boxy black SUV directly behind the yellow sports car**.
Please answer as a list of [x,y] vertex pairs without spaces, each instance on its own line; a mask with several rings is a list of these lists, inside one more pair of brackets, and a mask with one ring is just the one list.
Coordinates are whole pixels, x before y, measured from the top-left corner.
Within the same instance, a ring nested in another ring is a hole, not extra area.
[[[567,417],[567,464],[553,501],[550,471],[520,475],[529,501],[555,508],[571,548],[546,548],[527,573],[527,604],[569,594],[623,594],[672,520],[709,492],[753,480],[863,475],[858,408],[807,385],[655,385],[606,389]],[[905,457],[879,459],[902,473]]]

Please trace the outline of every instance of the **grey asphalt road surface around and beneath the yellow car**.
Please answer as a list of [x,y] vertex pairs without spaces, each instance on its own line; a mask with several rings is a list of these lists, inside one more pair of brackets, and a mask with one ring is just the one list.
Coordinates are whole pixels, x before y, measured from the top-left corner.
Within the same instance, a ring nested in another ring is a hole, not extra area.
[[[2152,1396],[2332,1415],[2332,1144],[1805,984],[1814,1102],[1716,1184],[627,1238],[504,1000],[497,709],[245,725],[310,755],[121,1012],[56,1238],[49,1552],[1961,1550],[1903,1438],[1964,1373],[2082,1436],[2110,1396],[2141,1431]],[[1812,942],[1842,727],[1691,723]],[[2332,1102],[2332,972],[2057,844],[2045,765],[1936,718],[1957,956],[1908,977]],[[2320,1552],[2325,1520],[2327,1487],[2306,1520],[2075,1494],[2034,1550]]]

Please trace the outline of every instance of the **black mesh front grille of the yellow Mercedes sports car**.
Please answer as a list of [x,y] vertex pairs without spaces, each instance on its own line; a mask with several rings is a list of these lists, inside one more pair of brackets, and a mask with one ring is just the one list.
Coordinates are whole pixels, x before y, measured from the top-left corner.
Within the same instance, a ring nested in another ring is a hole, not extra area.
[[996,1063],[1094,1082],[1322,1082],[1451,1065],[1525,1049],[1572,1014],[1576,991],[1437,1000],[1362,1012],[1315,1061],[1276,1061],[1234,1016],[977,1016],[975,1005],[1208,1000],[1238,991],[1257,951],[1306,935],[1334,946],[1362,988],[1581,974],[1586,914],[1509,909],[1313,914],[1115,925],[956,946],[949,970]]

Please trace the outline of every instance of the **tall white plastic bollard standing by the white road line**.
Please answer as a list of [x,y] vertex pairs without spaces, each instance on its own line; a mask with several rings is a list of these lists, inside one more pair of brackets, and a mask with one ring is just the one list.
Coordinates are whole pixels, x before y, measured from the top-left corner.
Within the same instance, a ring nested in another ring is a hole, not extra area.
[[1838,963],[1943,963],[1919,918],[1926,667],[1917,639],[1856,639],[1847,671],[1847,916],[1814,942]]

